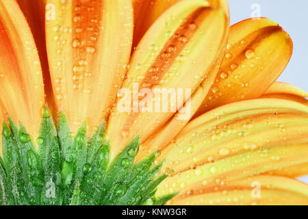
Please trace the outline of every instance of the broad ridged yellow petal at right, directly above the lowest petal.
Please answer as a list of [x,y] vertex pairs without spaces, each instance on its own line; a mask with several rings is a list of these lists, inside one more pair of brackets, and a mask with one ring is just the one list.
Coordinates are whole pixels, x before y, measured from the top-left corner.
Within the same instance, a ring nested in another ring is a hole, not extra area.
[[293,101],[256,99],[211,110],[162,151],[162,171],[175,176],[159,191],[174,182],[214,183],[306,163],[307,131],[308,107]]

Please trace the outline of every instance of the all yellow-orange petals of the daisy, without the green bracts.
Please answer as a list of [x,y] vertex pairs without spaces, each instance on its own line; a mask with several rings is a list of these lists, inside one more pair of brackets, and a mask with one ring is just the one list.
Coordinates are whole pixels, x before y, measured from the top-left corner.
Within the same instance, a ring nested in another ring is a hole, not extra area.
[[[157,195],[179,192],[168,204],[308,205],[294,179],[308,174],[308,94],[275,82],[292,47],[268,18],[229,27],[227,0],[2,0],[0,118],[32,140],[44,105],[73,136],[106,120],[112,159],[140,133],[137,159],[159,149],[170,175]],[[192,95],[174,112],[120,111],[136,85]]]

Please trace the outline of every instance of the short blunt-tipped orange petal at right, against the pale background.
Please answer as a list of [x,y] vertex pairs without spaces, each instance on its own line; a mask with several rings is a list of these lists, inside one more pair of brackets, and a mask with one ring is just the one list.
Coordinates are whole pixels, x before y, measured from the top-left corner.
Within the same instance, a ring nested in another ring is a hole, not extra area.
[[220,72],[195,117],[226,103],[261,96],[284,70],[292,49],[290,36],[267,18],[233,25]]

